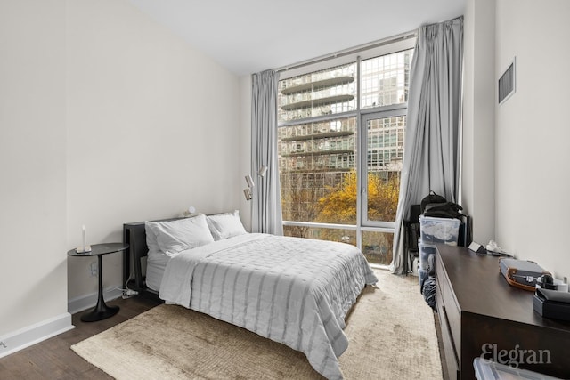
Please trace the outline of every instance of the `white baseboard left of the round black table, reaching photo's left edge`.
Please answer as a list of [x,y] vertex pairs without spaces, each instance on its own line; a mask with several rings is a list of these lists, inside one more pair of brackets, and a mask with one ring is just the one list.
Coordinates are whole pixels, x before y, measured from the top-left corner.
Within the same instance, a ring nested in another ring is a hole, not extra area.
[[0,336],[0,358],[42,342],[52,336],[57,336],[72,328],[75,328],[75,326],[71,324],[71,314],[66,312],[35,325],[21,328],[8,335]]

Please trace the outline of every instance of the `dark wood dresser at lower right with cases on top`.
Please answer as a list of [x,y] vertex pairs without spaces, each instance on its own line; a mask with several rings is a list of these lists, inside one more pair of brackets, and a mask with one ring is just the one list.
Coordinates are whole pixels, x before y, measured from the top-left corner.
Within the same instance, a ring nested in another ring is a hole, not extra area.
[[499,258],[437,245],[436,304],[450,379],[475,379],[485,359],[570,379],[570,322],[533,311],[533,292],[511,287]]

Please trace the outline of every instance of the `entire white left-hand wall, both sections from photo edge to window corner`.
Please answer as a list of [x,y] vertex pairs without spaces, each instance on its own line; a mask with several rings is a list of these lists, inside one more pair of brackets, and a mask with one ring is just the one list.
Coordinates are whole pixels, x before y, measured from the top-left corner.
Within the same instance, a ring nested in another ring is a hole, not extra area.
[[82,224],[244,206],[240,78],[126,0],[3,0],[0,52],[0,340],[94,296]]

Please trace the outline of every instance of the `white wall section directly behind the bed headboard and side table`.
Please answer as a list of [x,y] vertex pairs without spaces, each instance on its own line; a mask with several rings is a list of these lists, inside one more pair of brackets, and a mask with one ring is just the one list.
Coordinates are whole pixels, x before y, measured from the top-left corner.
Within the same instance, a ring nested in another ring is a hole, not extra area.
[[[240,80],[126,1],[67,4],[67,245],[124,222],[240,207]],[[69,258],[69,299],[97,289]],[[121,255],[103,287],[121,287]]]

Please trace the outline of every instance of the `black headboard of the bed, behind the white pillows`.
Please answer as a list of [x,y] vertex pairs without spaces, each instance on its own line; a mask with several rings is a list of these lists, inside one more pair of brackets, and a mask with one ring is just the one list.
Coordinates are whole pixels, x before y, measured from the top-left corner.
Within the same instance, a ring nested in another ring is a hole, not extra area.
[[[161,219],[152,222],[175,221],[183,218]],[[142,273],[142,259],[149,253],[149,247],[146,245],[146,230],[144,222],[132,222],[123,224],[123,242],[128,244],[128,249],[123,255],[123,284],[129,280],[131,276],[131,264],[133,264],[134,283],[129,282],[129,288],[137,292],[147,291],[155,293],[155,291],[146,287],[145,276]]]

